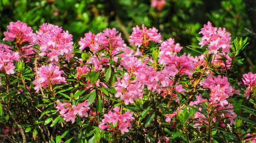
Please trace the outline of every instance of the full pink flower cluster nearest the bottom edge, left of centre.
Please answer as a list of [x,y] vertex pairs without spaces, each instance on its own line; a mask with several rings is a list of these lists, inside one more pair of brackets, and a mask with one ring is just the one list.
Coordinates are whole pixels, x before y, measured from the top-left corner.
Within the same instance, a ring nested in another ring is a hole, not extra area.
[[113,110],[114,112],[109,111],[108,114],[103,115],[104,119],[99,124],[99,128],[101,130],[108,128],[108,131],[114,130],[114,132],[118,129],[122,134],[129,132],[129,129],[132,129],[131,122],[134,120],[133,113],[128,110],[122,114],[118,106],[113,108]]

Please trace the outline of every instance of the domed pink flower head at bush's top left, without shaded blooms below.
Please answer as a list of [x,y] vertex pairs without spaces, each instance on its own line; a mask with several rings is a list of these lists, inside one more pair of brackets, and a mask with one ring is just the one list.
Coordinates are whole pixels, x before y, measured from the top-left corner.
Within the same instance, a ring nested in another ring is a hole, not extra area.
[[16,42],[20,45],[23,42],[34,43],[36,36],[27,23],[20,22],[19,20],[17,22],[10,22],[4,35],[5,38],[3,40],[14,41],[14,39],[16,39]]

